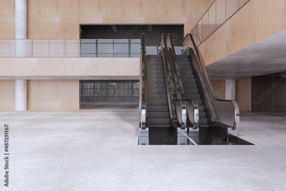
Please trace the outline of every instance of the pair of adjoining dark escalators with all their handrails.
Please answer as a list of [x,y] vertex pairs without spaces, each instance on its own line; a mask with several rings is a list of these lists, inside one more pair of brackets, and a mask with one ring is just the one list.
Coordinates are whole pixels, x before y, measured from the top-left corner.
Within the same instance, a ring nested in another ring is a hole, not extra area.
[[171,34],[162,34],[160,54],[148,56],[142,34],[140,58],[138,144],[173,134],[172,144],[228,144],[237,139],[238,105],[215,95],[191,34],[182,42],[181,55],[174,51]]

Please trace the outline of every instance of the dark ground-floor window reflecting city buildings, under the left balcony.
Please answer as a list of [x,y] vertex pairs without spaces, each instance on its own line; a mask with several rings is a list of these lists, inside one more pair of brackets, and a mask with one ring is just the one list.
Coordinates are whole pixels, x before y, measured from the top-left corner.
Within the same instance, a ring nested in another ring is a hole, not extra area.
[[138,109],[139,80],[82,80],[81,109]]

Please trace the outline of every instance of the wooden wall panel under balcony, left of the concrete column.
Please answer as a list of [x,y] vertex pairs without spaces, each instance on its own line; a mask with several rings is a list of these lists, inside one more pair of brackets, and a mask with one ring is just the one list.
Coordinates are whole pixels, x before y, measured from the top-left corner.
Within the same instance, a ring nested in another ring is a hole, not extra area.
[[15,80],[0,80],[0,110],[15,110]]

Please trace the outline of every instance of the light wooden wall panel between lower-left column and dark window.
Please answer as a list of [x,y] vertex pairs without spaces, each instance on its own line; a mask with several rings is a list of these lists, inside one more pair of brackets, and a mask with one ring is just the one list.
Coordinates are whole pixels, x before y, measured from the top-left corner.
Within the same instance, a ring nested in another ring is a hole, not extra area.
[[80,109],[79,80],[28,80],[29,83],[28,110]]

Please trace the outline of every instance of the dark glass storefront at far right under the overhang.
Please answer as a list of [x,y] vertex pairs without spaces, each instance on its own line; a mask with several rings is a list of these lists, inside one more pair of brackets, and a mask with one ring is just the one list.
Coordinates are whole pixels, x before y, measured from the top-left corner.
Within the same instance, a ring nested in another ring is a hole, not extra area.
[[286,72],[252,78],[253,112],[286,117]]

